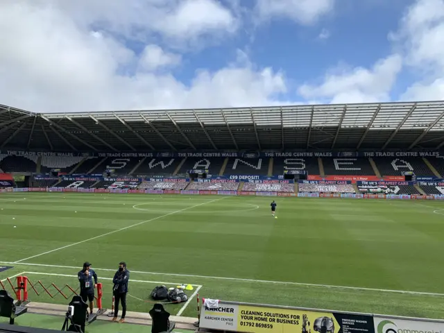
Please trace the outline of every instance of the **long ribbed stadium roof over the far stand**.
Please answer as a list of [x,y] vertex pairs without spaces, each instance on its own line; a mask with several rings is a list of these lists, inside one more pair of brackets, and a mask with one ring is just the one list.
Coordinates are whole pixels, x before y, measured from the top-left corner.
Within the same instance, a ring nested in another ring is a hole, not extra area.
[[444,101],[33,113],[0,105],[0,150],[435,150]]

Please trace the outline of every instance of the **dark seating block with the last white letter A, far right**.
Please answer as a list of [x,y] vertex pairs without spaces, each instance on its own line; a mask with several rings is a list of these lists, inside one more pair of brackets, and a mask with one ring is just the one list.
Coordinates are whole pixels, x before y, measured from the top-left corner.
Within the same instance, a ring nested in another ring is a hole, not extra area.
[[421,157],[375,157],[373,161],[382,176],[401,176],[403,171],[413,171],[416,176],[434,176]]

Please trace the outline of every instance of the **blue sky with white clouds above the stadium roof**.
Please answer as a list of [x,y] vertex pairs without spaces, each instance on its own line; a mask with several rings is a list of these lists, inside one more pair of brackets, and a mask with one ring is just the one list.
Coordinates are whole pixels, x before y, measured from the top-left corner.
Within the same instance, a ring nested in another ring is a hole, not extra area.
[[34,112],[444,99],[444,0],[1,0]]

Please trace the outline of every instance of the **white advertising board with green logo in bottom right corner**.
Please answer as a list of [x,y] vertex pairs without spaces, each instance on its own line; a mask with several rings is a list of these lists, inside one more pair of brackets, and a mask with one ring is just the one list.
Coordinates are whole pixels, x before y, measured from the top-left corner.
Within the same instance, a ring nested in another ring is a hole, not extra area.
[[374,316],[376,333],[443,333],[444,321],[411,321]]

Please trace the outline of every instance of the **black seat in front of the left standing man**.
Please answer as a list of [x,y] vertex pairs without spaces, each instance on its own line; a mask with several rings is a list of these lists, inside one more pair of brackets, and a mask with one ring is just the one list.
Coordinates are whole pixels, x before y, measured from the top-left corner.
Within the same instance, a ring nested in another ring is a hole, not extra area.
[[74,296],[69,302],[62,331],[84,333],[85,325],[97,318],[97,316],[88,316],[87,309],[88,305],[83,302],[82,298],[78,295]]

